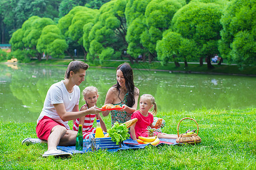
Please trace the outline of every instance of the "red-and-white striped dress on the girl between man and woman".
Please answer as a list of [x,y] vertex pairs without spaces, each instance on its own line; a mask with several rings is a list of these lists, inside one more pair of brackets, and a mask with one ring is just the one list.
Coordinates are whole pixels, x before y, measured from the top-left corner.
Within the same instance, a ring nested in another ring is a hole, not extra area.
[[[82,105],[82,107],[86,107],[88,109],[86,104]],[[81,108],[80,108],[80,111],[81,111]],[[82,126],[82,135],[83,135],[84,139],[89,139],[89,134],[95,133],[95,131],[96,131],[96,128],[92,127],[95,117],[96,117],[96,114],[86,114],[85,115],[84,125]],[[79,120],[80,120],[80,118],[77,118],[73,125],[73,130],[75,130],[75,131],[78,131],[78,129],[79,129]]]

